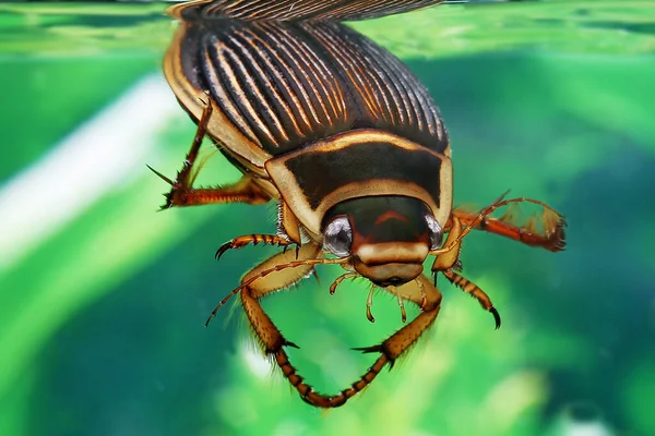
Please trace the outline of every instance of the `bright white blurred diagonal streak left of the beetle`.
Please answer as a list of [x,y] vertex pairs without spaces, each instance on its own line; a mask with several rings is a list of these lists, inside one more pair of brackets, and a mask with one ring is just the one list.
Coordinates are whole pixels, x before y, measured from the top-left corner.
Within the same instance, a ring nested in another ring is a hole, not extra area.
[[159,75],[138,82],[0,189],[0,269],[145,167],[156,134],[180,116]]

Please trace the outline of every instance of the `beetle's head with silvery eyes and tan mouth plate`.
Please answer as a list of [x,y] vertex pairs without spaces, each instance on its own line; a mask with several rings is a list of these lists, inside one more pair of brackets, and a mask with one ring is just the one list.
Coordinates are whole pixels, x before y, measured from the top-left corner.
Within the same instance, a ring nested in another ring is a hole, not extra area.
[[325,214],[323,244],[373,283],[414,280],[428,252],[441,245],[443,228],[428,206],[406,196],[367,196],[342,202]]

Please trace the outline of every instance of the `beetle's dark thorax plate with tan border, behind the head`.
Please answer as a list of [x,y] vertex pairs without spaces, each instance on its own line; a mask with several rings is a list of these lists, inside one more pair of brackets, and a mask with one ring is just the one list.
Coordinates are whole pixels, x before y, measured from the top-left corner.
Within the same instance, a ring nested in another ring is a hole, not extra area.
[[265,169],[282,199],[310,234],[321,234],[327,210],[354,198],[415,198],[441,226],[452,208],[450,158],[372,129],[307,145],[270,159]]

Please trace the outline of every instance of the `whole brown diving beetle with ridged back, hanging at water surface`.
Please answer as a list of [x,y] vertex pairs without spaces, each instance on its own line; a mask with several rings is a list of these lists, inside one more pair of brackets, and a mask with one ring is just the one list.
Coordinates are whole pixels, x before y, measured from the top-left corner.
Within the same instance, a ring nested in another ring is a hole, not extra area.
[[[432,325],[441,306],[438,274],[477,299],[500,326],[487,294],[461,275],[460,246],[472,229],[553,252],[564,249],[565,221],[544,203],[501,197],[477,213],[453,208],[451,145],[428,90],[390,52],[341,23],[439,2],[201,0],[168,10],[180,26],[164,72],[198,131],[175,180],[155,171],[171,185],[163,208],[277,202],[275,234],[235,238],[216,257],[258,243],[284,251],[247,272],[207,323],[239,294],[264,352],[314,407],[344,404]],[[239,181],[193,187],[205,135],[242,172]],[[543,215],[528,225],[490,216],[520,202],[539,205]],[[430,255],[434,281],[422,274]],[[358,349],[379,356],[333,396],[305,383],[285,351],[296,346],[260,305],[262,296],[322,264],[346,270],[331,292],[345,278],[364,277],[397,296],[403,320],[404,301],[420,308],[383,342]]]

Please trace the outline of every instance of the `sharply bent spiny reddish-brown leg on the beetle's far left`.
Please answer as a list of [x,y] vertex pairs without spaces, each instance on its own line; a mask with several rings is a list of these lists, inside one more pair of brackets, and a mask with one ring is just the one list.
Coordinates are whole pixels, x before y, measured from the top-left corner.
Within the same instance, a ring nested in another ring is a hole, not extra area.
[[182,169],[178,171],[175,180],[170,180],[159,171],[147,166],[151,171],[171,186],[170,192],[165,194],[166,203],[162,206],[162,209],[174,206],[199,206],[213,203],[263,204],[271,199],[266,193],[257,186],[249,175],[243,175],[236,183],[225,186],[193,187],[193,181],[195,175],[198,175],[198,172],[193,171],[193,167],[198,159],[202,140],[207,132],[207,123],[210,122],[212,111],[213,107],[210,100],[209,102],[205,102],[202,117],[198,122],[195,136],[193,136],[193,142],[191,143],[191,148],[187,154]]

